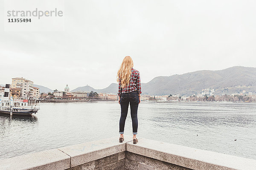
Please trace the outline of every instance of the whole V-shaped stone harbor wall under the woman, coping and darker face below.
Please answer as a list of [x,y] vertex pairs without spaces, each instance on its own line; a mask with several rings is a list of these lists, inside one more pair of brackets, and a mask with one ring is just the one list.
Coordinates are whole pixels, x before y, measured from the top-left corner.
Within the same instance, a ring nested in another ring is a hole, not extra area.
[[[119,136],[0,160],[0,170],[255,170],[256,160],[132,136]],[[145,169],[144,169],[145,170]]]

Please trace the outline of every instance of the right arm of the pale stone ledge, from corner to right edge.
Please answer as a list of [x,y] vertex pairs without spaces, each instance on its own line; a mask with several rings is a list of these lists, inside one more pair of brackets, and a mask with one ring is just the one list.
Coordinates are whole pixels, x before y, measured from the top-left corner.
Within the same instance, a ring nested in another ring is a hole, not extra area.
[[207,150],[141,139],[135,145],[126,143],[126,150],[160,161],[194,170],[255,170],[256,160]]

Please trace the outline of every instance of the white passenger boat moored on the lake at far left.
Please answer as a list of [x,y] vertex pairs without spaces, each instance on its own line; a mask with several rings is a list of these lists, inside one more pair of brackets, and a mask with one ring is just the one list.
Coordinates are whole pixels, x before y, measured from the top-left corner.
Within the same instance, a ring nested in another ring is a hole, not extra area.
[[0,99],[0,113],[11,115],[32,115],[40,109],[38,100],[9,99],[9,87]]

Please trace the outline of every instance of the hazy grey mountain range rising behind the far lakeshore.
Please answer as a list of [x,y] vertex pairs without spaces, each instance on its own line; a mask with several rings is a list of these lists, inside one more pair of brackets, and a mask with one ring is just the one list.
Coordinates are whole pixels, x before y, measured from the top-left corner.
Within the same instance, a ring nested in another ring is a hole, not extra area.
[[[147,83],[142,83],[142,94],[166,95],[180,94],[189,96],[198,94],[202,89],[214,88],[216,95],[239,93],[243,90],[256,91],[256,68],[235,66],[224,70],[194,71],[186,74],[155,77]],[[97,93],[117,93],[117,83],[112,83],[104,89],[94,89],[90,86],[78,87],[73,91],[96,91]]]

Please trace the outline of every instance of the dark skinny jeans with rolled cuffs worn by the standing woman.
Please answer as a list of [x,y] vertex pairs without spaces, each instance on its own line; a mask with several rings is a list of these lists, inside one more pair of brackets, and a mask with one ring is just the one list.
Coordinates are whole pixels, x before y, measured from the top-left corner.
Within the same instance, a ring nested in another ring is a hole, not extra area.
[[119,133],[123,134],[125,129],[125,120],[128,113],[128,106],[130,102],[131,108],[131,120],[132,120],[132,132],[137,135],[138,130],[138,106],[139,106],[139,96],[137,91],[132,91],[130,93],[122,93],[120,98],[121,105],[121,117],[119,121]]

